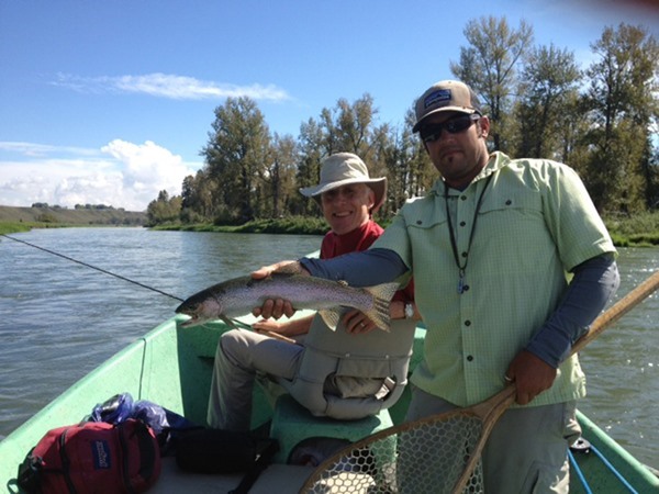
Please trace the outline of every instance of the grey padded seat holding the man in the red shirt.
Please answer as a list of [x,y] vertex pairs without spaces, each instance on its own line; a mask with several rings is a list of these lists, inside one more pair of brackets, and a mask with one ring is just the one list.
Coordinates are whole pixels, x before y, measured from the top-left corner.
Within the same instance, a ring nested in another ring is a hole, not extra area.
[[[358,419],[375,415],[392,406],[407,384],[415,327],[414,321],[395,319],[390,332],[350,335],[343,323],[332,330],[316,315],[304,338],[295,378],[278,382],[315,416]],[[342,381],[348,388],[350,382],[357,389],[376,385],[368,396],[328,392],[330,382]]]

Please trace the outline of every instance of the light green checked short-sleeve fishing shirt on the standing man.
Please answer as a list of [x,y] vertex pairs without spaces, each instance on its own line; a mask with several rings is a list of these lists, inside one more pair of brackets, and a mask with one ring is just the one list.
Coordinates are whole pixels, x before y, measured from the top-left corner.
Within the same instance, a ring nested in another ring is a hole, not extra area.
[[[466,263],[461,294],[446,202],[458,259]],[[566,292],[568,271],[615,252],[571,168],[550,160],[511,160],[502,153],[492,154],[463,191],[448,189],[445,199],[438,180],[426,197],[409,201],[373,247],[398,252],[414,276],[427,335],[412,382],[458,406],[501,391],[507,366]],[[530,405],[584,395],[585,377],[574,356]]]

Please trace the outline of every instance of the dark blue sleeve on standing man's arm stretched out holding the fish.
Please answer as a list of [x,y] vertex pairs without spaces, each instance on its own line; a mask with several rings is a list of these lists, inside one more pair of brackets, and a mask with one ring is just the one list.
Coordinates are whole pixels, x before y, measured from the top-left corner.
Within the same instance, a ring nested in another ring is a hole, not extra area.
[[388,283],[409,271],[396,252],[381,248],[345,254],[332,259],[303,257],[300,263],[314,277],[346,281],[350,287]]

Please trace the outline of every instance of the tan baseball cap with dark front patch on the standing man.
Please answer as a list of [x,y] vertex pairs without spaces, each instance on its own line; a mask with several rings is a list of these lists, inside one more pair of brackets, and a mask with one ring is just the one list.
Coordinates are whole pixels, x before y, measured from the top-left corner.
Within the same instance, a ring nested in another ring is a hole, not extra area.
[[412,127],[412,132],[418,132],[425,119],[440,112],[483,114],[478,96],[469,86],[459,80],[435,82],[416,100],[414,111],[416,123]]

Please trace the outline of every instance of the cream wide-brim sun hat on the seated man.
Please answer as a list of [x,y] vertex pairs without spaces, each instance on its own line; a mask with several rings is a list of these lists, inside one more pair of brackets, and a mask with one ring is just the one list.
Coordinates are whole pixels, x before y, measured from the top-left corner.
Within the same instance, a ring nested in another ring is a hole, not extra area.
[[366,183],[375,192],[376,200],[371,212],[376,212],[384,202],[387,177],[370,178],[366,164],[353,153],[336,153],[327,157],[321,165],[321,183],[303,187],[300,193],[320,203],[323,192],[350,183]]

